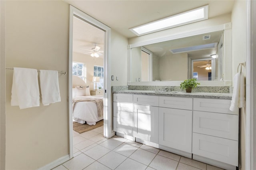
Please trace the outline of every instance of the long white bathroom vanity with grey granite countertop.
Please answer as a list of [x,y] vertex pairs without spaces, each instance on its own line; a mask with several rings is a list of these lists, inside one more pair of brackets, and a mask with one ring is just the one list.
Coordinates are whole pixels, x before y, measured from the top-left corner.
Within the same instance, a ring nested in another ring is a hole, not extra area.
[[224,169],[238,166],[230,93],[114,91],[116,135]]

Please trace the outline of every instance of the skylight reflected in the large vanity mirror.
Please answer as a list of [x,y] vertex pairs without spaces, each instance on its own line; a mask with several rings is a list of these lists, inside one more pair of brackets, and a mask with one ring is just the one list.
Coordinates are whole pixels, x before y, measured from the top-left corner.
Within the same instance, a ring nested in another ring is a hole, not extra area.
[[202,49],[209,49],[209,48],[216,48],[218,43],[208,43],[203,45],[195,45],[191,47],[184,47],[184,48],[177,48],[177,49],[170,49],[172,53],[184,53],[188,51],[197,51]]

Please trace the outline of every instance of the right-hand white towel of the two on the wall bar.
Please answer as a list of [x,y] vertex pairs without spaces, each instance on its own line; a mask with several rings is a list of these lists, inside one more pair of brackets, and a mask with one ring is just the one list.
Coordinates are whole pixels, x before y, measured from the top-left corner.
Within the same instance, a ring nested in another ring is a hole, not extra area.
[[43,105],[60,102],[58,71],[40,70],[39,77]]

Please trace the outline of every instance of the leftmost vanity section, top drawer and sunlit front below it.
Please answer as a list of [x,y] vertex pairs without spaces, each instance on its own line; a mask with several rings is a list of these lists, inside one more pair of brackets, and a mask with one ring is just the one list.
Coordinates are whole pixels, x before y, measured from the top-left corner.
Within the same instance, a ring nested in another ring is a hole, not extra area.
[[113,129],[124,135],[133,136],[133,96],[113,95]]

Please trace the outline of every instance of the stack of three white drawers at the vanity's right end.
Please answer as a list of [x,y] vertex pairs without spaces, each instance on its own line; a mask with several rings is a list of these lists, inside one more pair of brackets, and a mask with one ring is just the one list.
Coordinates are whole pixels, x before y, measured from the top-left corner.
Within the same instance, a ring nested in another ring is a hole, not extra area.
[[232,112],[229,107],[230,100],[194,98],[194,159],[202,161],[202,157],[210,158],[234,168],[238,166],[238,109]]

